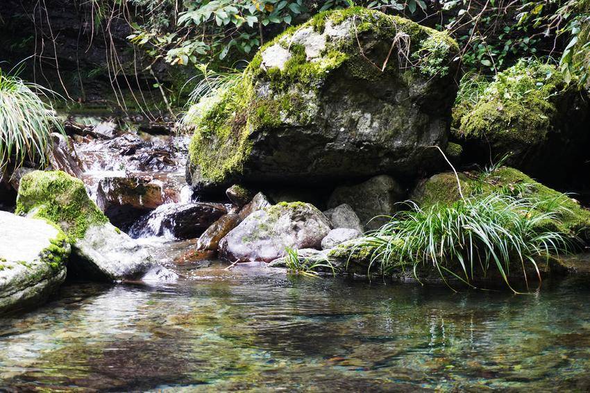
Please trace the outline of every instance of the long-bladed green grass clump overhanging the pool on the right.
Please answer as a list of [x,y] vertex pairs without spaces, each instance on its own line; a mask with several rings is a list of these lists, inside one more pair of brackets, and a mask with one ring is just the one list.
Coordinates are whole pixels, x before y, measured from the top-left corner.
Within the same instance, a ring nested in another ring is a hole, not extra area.
[[518,268],[528,285],[526,265],[540,279],[536,258],[567,253],[575,243],[568,235],[543,226],[559,221],[559,207],[548,211],[543,206],[545,212],[539,213],[538,204],[497,193],[425,209],[414,204],[369,237],[374,249],[371,265],[380,263],[384,274],[411,268],[417,279],[419,267],[430,265],[445,281],[457,278],[471,286],[476,278],[496,269],[511,289],[510,270]]

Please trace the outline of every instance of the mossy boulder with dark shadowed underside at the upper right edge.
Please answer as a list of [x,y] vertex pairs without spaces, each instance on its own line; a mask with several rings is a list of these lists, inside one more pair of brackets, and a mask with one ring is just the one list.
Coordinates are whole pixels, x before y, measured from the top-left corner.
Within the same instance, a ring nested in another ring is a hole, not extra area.
[[587,158],[589,106],[577,83],[553,65],[520,60],[494,81],[465,79],[453,110],[453,135],[463,158],[506,163],[543,181],[559,182]]

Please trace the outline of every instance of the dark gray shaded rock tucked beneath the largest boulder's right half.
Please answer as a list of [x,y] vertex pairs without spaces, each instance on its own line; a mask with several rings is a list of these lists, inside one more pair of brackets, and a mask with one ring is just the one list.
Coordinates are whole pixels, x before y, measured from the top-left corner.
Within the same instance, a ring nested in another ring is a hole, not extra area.
[[337,187],[328,200],[328,208],[346,203],[365,228],[377,229],[389,221],[378,216],[393,214],[396,203],[404,198],[405,192],[391,176],[380,175],[357,185]]

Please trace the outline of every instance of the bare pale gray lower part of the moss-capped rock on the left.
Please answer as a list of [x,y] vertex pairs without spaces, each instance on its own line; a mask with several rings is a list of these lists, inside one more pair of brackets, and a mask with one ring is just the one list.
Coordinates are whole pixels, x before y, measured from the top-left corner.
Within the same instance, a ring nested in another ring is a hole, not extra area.
[[[68,270],[77,278],[95,281],[139,279],[158,267],[146,249],[111,224],[90,226],[74,243],[72,251]],[[160,276],[174,277],[174,274]],[[153,274],[148,278],[153,279]]]

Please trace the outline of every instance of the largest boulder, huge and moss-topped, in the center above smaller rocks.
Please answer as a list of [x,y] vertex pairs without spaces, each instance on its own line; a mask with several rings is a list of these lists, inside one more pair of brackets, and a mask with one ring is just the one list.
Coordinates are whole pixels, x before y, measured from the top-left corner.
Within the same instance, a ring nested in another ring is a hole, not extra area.
[[457,44],[446,33],[364,8],[289,28],[242,79],[193,106],[187,178],[201,190],[319,183],[441,164]]

